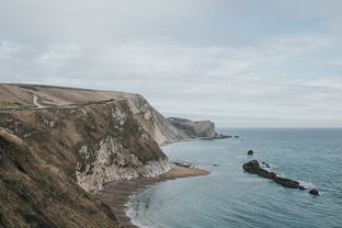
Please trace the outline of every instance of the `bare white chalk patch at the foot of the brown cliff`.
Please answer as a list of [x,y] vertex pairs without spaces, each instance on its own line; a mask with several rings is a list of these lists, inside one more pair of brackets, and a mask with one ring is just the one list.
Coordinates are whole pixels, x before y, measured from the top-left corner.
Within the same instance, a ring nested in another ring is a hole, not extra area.
[[102,139],[99,146],[96,151],[88,150],[86,145],[79,150],[82,159],[76,166],[77,183],[87,191],[132,178],[157,176],[171,169],[166,158],[142,163],[112,136]]

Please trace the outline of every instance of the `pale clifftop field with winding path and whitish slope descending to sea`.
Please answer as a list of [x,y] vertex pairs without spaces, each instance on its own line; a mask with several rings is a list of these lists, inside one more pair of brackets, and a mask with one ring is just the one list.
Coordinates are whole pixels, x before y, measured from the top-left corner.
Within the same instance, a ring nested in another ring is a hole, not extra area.
[[[36,98],[36,102],[34,99]],[[75,107],[110,100],[125,100],[133,117],[159,144],[173,142],[187,138],[182,130],[158,113],[141,95],[134,93],[96,91],[35,84],[0,83],[0,110],[45,107]]]

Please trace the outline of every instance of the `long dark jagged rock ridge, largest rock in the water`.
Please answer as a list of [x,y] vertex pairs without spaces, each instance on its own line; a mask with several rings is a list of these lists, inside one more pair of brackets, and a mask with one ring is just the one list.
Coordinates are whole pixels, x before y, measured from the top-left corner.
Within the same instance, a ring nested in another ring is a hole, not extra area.
[[251,160],[251,161],[244,163],[242,166],[242,168],[246,172],[258,174],[258,175],[261,175],[265,179],[270,179],[270,180],[274,181],[275,183],[278,183],[283,186],[287,186],[290,189],[305,190],[305,187],[301,186],[299,184],[299,182],[297,182],[297,181],[293,181],[290,179],[277,176],[276,173],[269,172],[267,170],[262,169],[256,160]]

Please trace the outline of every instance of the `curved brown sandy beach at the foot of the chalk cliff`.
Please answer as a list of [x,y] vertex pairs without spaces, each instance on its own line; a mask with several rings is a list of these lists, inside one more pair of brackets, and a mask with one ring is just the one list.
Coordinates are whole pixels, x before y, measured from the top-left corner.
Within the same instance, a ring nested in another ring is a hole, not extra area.
[[95,195],[112,208],[121,227],[138,228],[136,225],[132,224],[130,218],[126,215],[128,209],[126,204],[135,193],[142,191],[150,185],[168,180],[207,175],[209,173],[209,171],[196,168],[173,167],[169,172],[155,178],[139,176],[107,185]]

